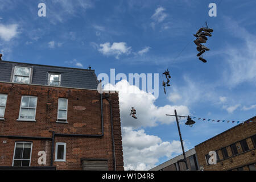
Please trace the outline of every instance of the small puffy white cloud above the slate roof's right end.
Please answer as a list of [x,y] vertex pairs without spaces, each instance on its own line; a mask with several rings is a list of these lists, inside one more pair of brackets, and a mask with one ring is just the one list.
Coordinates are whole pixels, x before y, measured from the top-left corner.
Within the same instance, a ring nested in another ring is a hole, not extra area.
[[131,47],[128,47],[125,42],[114,42],[112,45],[109,42],[100,44],[98,48],[103,55],[115,56],[116,59],[119,59],[119,56],[122,54],[130,54]]

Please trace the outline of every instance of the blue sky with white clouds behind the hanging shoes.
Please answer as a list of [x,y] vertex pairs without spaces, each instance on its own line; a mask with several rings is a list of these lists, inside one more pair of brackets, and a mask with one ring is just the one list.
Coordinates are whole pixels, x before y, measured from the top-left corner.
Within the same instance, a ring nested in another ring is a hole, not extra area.
[[[46,3],[46,17],[38,4]],[[209,18],[209,3],[217,17]],[[221,3],[220,3],[221,2]],[[218,5],[220,3],[220,5]],[[174,118],[164,114],[244,121],[256,110],[256,2],[0,0],[3,60],[88,68],[96,74],[171,72],[167,94],[120,93],[126,169],[149,169],[181,154]],[[193,34],[208,19],[207,63],[196,57]],[[182,52],[181,52],[182,51]],[[162,83],[162,75],[159,76]],[[125,84],[120,81],[118,86]],[[120,91],[121,92],[121,91]],[[129,116],[137,109],[138,120]],[[188,150],[236,123],[181,121]]]

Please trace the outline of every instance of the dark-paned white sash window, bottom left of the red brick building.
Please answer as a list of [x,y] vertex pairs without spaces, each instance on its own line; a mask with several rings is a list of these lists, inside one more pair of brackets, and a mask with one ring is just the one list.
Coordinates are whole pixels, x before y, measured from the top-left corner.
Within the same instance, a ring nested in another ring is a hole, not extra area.
[[15,142],[13,166],[30,166],[32,142]]

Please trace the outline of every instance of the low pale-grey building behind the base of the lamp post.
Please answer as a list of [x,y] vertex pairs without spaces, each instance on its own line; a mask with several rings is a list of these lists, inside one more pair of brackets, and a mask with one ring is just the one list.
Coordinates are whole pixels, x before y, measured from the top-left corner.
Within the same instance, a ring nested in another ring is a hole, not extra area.
[[[188,169],[190,171],[199,170],[195,148],[192,148],[191,150],[188,150],[187,152],[185,152],[185,156],[188,164]],[[167,162],[164,162],[150,169],[150,171],[186,171],[187,169],[186,169],[185,163],[183,162],[184,161],[183,159],[184,159],[183,154],[180,154],[175,158],[172,158]]]

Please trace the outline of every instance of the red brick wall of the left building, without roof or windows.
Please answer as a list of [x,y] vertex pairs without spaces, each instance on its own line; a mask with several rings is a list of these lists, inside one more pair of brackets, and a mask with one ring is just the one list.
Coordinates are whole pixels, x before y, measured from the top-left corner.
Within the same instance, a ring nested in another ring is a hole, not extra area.
[[[49,131],[61,134],[101,134],[101,102],[96,90],[57,88],[50,86],[8,84],[0,82],[0,93],[8,94],[5,121],[0,121],[0,135],[52,137]],[[36,122],[16,121],[22,96],[37,96]],[[68,98],[68,123],[56,123],[58,98]],[[123,170],[121,121],[118,93],[111,94],[113,107],[116,166]],[[110,105],[103,100],[104,136],[101,138],[55,137],[55,142],[67,143],[67,162],[54,162],[57,169],[82,169],[81,158],[108,159],[113,169]],[[2,140],[7,140],[3,144]],[[11,166],[14,143],[20,139],[0,138],[0,166]],[[21,139],[24,140],[24,139]],[[51,154],[51,140],[33,142],[31,166],[39,166],[38,151],[46,150],[47,165]],[[54,159],[55,154],[53,154]]]

